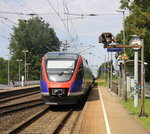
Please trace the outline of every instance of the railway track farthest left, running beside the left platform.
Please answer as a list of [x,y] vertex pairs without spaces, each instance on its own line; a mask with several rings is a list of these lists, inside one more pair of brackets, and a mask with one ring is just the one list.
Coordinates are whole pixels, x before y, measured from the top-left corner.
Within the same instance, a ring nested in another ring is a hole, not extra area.
[[4,98],[4,99],[1,99],[0,104],[6,103],[6,102],[9,102],[9,101],[13,101],[13,100],[16,100],[16,99],[20,99],[20,98],[23,98],[23,97],[39,94],[39,93],[40,93],[40,91],[34,91],[32,93],[25,93],[25,94],[21,94],[21,95],[12,96],[12,97],[7,97],[7,98]]

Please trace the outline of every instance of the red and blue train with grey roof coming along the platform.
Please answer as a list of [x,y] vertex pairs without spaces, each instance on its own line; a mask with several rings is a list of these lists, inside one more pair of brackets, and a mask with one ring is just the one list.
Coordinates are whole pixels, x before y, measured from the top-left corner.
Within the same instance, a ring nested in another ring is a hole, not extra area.
[[76,104],[92,84],[92,72],[81,55],[48,52],[42,58],[40,87],[45,104]]

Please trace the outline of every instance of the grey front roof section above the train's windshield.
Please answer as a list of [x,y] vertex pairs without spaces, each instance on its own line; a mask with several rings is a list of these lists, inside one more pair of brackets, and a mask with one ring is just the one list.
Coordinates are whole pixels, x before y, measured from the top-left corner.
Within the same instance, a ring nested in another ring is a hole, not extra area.
[[48,52],[45,54],[46,59],[78,59],[79,54],[69,52]]

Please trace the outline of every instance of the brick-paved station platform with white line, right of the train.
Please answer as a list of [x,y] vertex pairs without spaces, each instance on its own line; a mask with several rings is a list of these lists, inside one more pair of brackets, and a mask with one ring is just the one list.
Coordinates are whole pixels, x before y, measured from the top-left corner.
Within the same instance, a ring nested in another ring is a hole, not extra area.
[[92,89],[73,134],[150,134],[106,87]]

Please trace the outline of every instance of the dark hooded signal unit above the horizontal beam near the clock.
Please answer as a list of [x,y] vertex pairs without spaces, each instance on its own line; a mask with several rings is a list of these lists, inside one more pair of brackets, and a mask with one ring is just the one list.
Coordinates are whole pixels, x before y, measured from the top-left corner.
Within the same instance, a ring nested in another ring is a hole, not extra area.
[[114,36],[112,35],[112,33],[110,33],[110,32],[102,33],[102,34],[99,36],[99,43],[103,43],[103,44],[104,44],[104,47],[107,47],[107,46],[110,45],[111,43],[114,43],[114,41],[115,41],[115,38],[114,38]]

